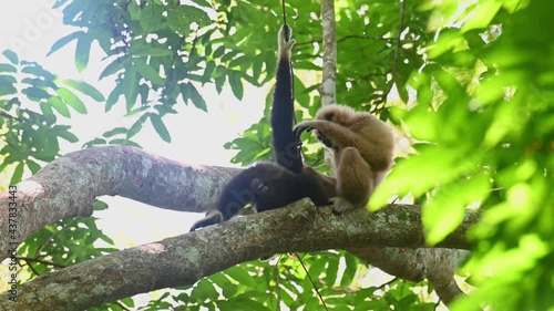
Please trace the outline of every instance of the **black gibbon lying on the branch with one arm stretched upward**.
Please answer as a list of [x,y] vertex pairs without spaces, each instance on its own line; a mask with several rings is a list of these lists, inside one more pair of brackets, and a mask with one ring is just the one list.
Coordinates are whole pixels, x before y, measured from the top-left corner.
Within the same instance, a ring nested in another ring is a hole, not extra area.
[[264,211],[284,207],[309,197],[316,206],[330,205],[336,195],[336,180],[305,166],[300,143],[293,131],[294,90],[290,28],[283,25],[278,34],[276,85],[271,104],[271,135],[277,163],[261,162],[246,168],[224,187],[217,210],[207,212],[191,231],[227,220],[247,204]]

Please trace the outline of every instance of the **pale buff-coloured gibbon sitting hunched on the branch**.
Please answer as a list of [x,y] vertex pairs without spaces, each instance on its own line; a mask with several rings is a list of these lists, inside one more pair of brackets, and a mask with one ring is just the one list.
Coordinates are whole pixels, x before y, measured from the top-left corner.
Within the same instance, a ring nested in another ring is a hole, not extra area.
[[394,139],[387,123],[351,107],[327,105],[316,118],[295,127],[299,136],[315,129],[318,141],[332,151],[332,168],[337,178],[334,210],[363,207],[376,186],[392,166]]

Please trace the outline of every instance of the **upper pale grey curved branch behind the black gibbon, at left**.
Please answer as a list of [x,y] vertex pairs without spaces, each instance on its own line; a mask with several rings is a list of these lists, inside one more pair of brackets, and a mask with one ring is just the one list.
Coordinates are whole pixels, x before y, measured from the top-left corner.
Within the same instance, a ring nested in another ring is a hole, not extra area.
[[[90,216],[96,197],[122,196],[166,209],[203,211],[215,204],[222,185],[238,172],[185,165],[126,146],[66,154],[16,185],[14,200],[9,191],[0,193],[0,228],[17,225],[11,227],[13,237],[0,235],[0,261],[9,249],[44,226]],[[11,219],[10,207],[17,208]]]

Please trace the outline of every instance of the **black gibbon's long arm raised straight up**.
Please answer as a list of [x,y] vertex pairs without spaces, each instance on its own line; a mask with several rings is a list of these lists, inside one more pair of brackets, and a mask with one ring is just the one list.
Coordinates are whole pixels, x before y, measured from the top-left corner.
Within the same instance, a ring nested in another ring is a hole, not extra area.
[[295,120],[294,72],[290,63],[294,39],[293,30],[283,25],[278,34],[276,84],[271,105],[271,135],[276,162],[294,173],[302,170],[299,141],[293,132]]

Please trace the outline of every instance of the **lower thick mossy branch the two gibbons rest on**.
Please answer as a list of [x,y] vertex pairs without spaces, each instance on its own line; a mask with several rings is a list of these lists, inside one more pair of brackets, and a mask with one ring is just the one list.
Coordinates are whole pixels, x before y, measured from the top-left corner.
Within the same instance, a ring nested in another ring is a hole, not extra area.
[[[463,236],[476,220],[476,215],[465,217],[441,247],[469,248]],[[0,310],[84,310],[140,292],[193,284],[273,253],[360,246],[414,248],[424,247],[423,240],[418,207],[398,205],[373,214],[353,210],[335,216],[305,199],[41,276],[19,288],[17,303],[0,296]]]

